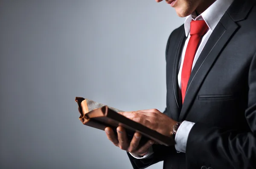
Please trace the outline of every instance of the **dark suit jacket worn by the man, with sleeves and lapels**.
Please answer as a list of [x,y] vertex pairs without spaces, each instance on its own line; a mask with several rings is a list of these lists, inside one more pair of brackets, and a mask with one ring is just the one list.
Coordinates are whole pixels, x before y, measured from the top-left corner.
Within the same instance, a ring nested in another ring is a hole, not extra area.
[[256,0],[235,0],[212,32],[192,70],[184,104],[177,83],[184,25],[166,48],[167,108],[192,121],[186,153],[154,145],[134,169],[163,161],[164,169],[256,169]]

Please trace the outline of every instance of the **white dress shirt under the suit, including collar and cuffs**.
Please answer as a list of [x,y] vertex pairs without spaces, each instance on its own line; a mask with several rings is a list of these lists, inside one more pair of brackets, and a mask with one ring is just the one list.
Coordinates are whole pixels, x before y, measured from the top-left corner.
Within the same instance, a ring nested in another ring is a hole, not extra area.
[[[181,89],[181,71],[183,67],[183,61],[186,53],[186,47],[188,45],[189,39],[190,39],[190,22],[192,20],[204,20],[206,24],[208,25],[207,33],[201,38],[201,42],[199,42],[199,46],[197,49],[197,52],[195,54],[195,58],[193,61],[192,69],[195,66],[195,63],[198,60],[199,55],[201,54],[201,51],[203,50],[205,44],[207,43],[209,37],[212,34],[212,31],[216,27],[216,25],[221,20],[221,17],[224,15],[224,13],[227,11],[227,9],[230,7],[231,3],[233,3],[233,0],[216,0],[209,8],[207,8],[202,14],[199,16],[196,15],[195,12],[193,12],[191,15],[186,17],[184,28],[185,28],[185,34],[186,34],[186,41],[183,46],[183,50],[181,53],[180,58],[180,68],[178,73],[178,85]],[[186,97],[186,96],[185,96]],[[188,140],[189,132],[192,129],[193,125],[195,123],[190,121],[183,121],[182,124],[180,124],[179,129],[177,130],[176,136],[175,136],[175,149],[178,152],[186,152],[186,143]],[[148,152],[148,154],[144,155],[142,158],[147,158],[149,155],[153,154],[152,149]],[[135,157],[133,155],[134,158]]]

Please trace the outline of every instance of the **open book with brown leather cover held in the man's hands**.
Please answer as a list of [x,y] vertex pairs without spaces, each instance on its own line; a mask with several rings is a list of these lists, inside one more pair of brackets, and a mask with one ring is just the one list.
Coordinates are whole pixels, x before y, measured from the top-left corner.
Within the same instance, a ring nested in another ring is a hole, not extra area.
[[163,144],[166,146],[174,145],[174,141],[171,137],[162,135],[155,130],[151,130],[144,125],[132,121],[131,119],[117,113],[121,112],[121,110],[117,110],[108,106],[90,110],[91,107],[88,106],[88,103],[90,104],[90,100],[88,101],[81,97],[76,97],[76,102],[78,103],[79,113],[81,114],[79,119],[84,125],[100,130],[105,130],[106,127],[111,127],[114,132],[116,132],[116,127],[122,126],[126,129],[129,140],[131,140],[133,137],[134,132],[141,133],[143,135],[140,141],[141,145],[145,144],[148,139],[154,140],[158,144]]

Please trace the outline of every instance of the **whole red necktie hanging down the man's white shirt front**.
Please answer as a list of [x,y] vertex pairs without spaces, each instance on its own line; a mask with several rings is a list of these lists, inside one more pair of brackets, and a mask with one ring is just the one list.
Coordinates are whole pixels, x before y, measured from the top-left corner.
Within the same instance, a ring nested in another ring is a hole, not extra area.
[[181,71],[181,96],[182,103],[184,102],[186,88],[189,82],[189,76],[192,70],[192,64],[195,58],[195,53],[198,48],[201,37],[206,33],[208,29],[204,20],[193,20],[190,23],[190,39],[186,48],[185,58]]

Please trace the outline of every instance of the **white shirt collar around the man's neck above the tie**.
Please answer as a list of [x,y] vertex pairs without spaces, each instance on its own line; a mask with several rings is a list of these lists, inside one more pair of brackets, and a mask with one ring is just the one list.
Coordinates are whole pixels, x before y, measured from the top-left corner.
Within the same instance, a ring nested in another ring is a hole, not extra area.
[[196,15],[195,11],[191,15],[187,16],[184,23],[186,37],[189,35],[190,22],[192,20],[204,20],[209,29],[213,31],[233,1],[234,0],[216,0],[199,16]]

